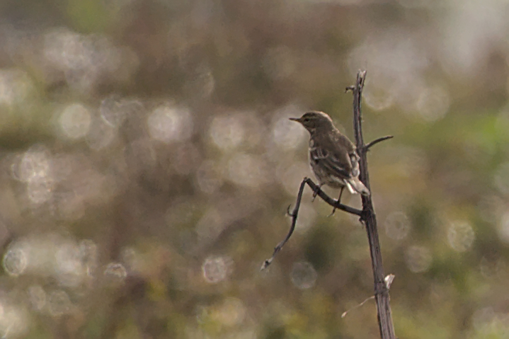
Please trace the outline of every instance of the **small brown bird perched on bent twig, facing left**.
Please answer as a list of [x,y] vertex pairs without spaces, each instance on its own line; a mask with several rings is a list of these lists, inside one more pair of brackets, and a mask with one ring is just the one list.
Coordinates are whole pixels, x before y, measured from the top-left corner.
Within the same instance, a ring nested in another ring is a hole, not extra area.
[[[338,203],[345,187],[352,194],[370,195],[370,190],[359,180],[357,148],[339,132],[331,117],[323,112],[311,111],[302,117],[290,117],[290,120],[299,122],[309,132],[309,165],[319,181],[319,188],[323,185],[341,188]],[[317,191],[313,198],[316,194]],[[335,211],[336,207],[332,214]]]

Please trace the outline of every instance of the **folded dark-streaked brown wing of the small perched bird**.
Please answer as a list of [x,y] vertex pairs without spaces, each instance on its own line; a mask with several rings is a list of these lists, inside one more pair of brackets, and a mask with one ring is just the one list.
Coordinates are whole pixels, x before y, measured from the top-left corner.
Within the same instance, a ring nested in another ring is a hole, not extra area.
[[341,152],[336,149],[329,150],[320,145],[312,147],[309,150],[309,154],[312,161],[319,166],[323,166],[331,175],[338,178],[350,178],[352,164],[348,156],[342,157]]

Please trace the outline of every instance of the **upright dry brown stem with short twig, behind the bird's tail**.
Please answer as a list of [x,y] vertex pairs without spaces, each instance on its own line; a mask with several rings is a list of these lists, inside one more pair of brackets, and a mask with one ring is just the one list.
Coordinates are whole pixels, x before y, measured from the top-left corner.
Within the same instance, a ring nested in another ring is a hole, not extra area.
[[[353,91],[353,130],[355,133],[355,144],[360,156],[359,179],[370,190],[370,175],[367,171],[366,152],[370,146],[376,144],[377,140],[365,145],[362,138],[362,115],[360,103],[362,100],[362,88],[366,78],[366,71],[359,71],[355,86],[347,88]],[[382,139],[378,139],[382,141]],[[386,137],[386,139],[389,139]],[[378,141],[378,142],[379,142]],[[367,239],[370,243],[371,263],[374,278],[374,298],[377,301],[378,324],[382,339],[395,339],[394,324],[392,323],[391,306],[389,305],[389,289],[384,281],[384,267],[382,265],[382,253],[378,239],[377,219],[374,215],[371,196],[362,196],[362,219],[366,225]]]

